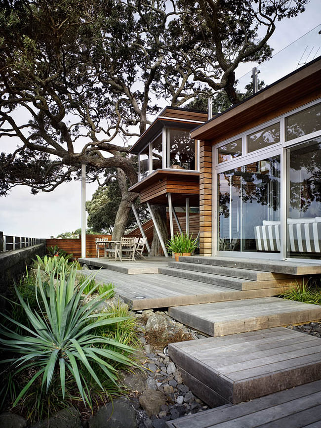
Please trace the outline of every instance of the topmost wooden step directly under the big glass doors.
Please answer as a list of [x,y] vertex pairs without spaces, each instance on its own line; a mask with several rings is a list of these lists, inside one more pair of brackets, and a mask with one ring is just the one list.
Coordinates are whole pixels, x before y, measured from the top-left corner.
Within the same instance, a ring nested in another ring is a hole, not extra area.
[[314,275],[321,273],[321,262],[293,262],[282,260],[240,258],[240,257],[179,257],[185,263],[201,263],[212,266],[237,267],[286,275]]

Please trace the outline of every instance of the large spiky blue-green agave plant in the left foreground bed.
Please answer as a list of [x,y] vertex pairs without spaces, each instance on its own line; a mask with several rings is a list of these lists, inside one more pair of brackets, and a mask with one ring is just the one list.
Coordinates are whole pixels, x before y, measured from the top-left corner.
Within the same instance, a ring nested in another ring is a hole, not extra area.
[[[0,324],[2,337],[0,347],[13,353],[13,357],[3,362],[11,362],[15,374],[27,368],[37,369],[32,379],[23,387],[13,406],[26,394],[31,385],[42,376],[41,387],[50,387],[54,373],[59,373],[63,397],[65,397],[66,375],[69,372],[75,379],[81,398],[89,404],[85,391],[94,381],[102,390],[96,367],[116,384],[116,369],[113,363],[134,365],[122,354],[134,352],[130,346],[103,336],[97,336],[95,329],[126,320],[126,317],[106,317],[103,313],[93,313],[102,299],[108,298],[111,291],[98,295],[95,299],[81,304],[82,292],[92,278],[88,277],[80,288],[75,285],[76,269],[71,268],[68,278],[62,267],[61,274],[55,279],[56,269],[49,274],[49,293],[42,283],[40,267],[36,279],[36,298],[39,311],[32,311],[17,288],[15,291],[26,316],[33,327],[2,314],[4,318],[25,331],[25,335],[16,333],[12,328]],[[44,309],[42,309],[44,307]],[[21,355],[21,356],[19,356]],[[89,377],[91,379],[88,379]]]

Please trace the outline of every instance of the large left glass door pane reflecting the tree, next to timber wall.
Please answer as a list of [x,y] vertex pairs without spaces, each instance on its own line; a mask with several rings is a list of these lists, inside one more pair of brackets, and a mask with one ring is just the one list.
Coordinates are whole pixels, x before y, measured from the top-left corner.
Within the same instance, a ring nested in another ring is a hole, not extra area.
[[218,249],[280,252],[280,155],[218,174]]

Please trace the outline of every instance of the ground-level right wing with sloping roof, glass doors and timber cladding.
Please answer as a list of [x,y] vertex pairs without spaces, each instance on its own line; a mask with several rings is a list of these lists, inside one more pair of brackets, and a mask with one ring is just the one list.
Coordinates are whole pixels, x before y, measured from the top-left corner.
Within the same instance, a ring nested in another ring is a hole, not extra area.
[[321,57],[191,137],[201,255],[321,259]]

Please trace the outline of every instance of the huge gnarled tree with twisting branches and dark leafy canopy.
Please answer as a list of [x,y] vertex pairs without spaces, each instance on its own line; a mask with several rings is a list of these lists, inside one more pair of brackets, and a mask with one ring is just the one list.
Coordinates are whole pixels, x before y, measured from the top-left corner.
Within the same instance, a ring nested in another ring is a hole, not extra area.
[[238,64],[266,58],[276,20],[306,1],[0,0],[0,137],[18,145],[1,154],[1,194],[52,191],[82,162],[92,179],[116,169],[118,239],[137,198],[127,141],[157,98],[226,89],[238,102]]

